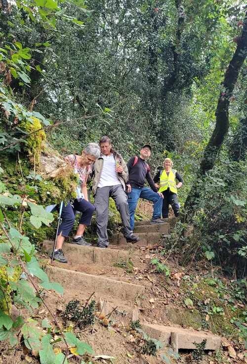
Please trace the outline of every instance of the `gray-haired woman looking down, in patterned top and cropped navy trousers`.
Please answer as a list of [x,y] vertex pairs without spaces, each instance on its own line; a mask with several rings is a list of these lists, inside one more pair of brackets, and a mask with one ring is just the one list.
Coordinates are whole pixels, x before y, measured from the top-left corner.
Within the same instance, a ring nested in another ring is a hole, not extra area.
[[70,163],[75,170],[75,173],[79,175],[80,184],[77,188],[77,198],[73,201],[63,205],[62,208],[62,223],[58,228],[58,237],[54,252],[54,260],[60,261],[62,263],[67,263],[68,260],[65,258],[62,246],[64,239],[69,236],[69,233],[75,222],[75,212],[81,212],[81,218],[79,222],[79,227],[77,233],[72,240],[72,244],[87,245],[83,239],[83,233],[85,227],[90,225],[92,214],[95,210],[94,206],[88,201],[87,198],[87,188],[86,181],[88,174],[91,173],[91,164],[100,156],[100,148],[96,143],[89,143],[82,151],[82,155],[71,154],[65,157],[65,160]]

